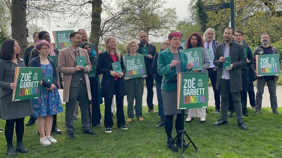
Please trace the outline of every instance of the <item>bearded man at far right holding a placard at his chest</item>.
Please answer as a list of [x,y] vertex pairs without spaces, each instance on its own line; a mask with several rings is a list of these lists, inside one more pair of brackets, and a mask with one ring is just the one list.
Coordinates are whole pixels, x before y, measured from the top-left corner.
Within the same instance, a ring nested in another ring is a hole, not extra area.
[[[276,82],[278,81],[279,76],[257,76],[257,68],[256,68],[256,55],[264,55],[264,54],[279,54],[277,48],[272,47],[269,44],[270,35],[268,33],[263,33],[261,35],[261,43],[259,47],[254,50],[253,54],[253,64],[252,68],[255,72],[255,78],[257,78],[257,94],[256,94],[256,114],[261,113],[261,100],[262,95],[264,94],[264,85],[267,83],[268,92],[270,94],[270,106],[272,108],[272,112],[274,114],[279,115],[279,111],[277,111],[277,96],[276,96]],[[279,66],[281,72],[281,57],[279,56]]]

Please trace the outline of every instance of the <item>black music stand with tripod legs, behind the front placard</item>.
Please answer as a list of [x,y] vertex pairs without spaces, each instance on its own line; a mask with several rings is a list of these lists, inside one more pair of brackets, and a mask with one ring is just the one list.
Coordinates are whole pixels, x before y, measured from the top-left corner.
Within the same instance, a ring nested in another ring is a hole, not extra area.
[[[170,79],[166,80],[165,82],[166,83],[175,83],[175,82],[177,82],[177,73],[175,73],[175,75],[173,75]],[[181,109],[181,125],[182,125],[182,129],[183,130],[179,130],[178,131],[177,136],[175,136],[173,141],[168,145],[168,148],[172,145],[172,143],[175,142],[175,144],[181,149],[180,157],[183,157],[183,152],[185,151],[185,149],[188,148],[190,143],[194,146],[195,150],[198,150],[197,146],[194,144],[194,142],[190,139],[190,137],[188,136],[188,134],[184,130],[184,109]],[[176,141],[176,139],[179,138],[180,135],[181,135],[181,144],[179,144]],[[189,139],[189,143],[188,143],[187,147],[183,149],[184,135]]]

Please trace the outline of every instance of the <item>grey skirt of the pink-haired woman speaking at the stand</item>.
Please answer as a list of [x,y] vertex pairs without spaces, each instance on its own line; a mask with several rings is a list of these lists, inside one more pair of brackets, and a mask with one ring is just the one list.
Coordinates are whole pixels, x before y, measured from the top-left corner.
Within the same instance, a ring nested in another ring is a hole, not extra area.
[[162,98],[164,103],[164,115],[181,114],[181,110],[177,110],[177,88],[174,91],[162,90]]

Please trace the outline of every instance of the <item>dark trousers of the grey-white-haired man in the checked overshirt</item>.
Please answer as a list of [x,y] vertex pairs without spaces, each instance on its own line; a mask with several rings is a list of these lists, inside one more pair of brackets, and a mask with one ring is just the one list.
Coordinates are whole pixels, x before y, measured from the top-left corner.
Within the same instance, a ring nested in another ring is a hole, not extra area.
[[212,82],[212,89],[214,90],[214,102],[216,109],[220,110],[220,91],[216,90],[216,77],[217,77],[217,71],[214,71],[213,68],[207,69],[209,73],[209,79]]

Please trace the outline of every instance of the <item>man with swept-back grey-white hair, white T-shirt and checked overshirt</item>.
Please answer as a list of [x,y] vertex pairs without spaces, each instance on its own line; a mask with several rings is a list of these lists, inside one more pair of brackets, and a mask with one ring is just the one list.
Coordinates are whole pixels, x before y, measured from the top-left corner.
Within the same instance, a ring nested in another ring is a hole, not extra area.
[[209,73],[209,79],[212,82],[212,89],[214,90],[214,102],[216,106],[215,113],[220,113],[220,92],[216,90],[216,77],[218,67],[214,65],[214,54],[216,52],[216,47],[219,45],[218,41],[215,40],[215,31],[213,28],[208,28],[204,35],[204,47],[207,48],[207,54],[209,56],[209,62],[211,63],[207,69]]

